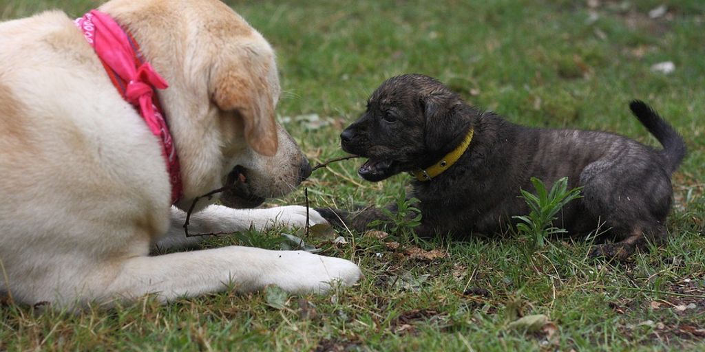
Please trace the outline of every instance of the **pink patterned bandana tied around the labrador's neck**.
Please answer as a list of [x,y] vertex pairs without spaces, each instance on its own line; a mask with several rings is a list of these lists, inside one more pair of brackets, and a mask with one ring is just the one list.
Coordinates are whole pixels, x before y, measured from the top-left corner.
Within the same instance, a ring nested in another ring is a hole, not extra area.
[[171,202],[181,198],[181,175],[176,149],[169,133],[154,88],[166,89],[168,84],[145,62],[140,46],[130,32],[123,30],[106,13],[92,10],[74,21],[93,47],[118,92],[133,104],[147,122],[149,130],[161,141],[161,153],[171,182]]

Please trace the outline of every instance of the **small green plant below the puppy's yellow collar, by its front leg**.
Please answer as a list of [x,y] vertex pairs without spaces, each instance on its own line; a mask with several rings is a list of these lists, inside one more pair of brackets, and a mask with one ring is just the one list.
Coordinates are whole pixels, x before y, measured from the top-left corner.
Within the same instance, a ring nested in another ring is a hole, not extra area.
[[412,239],[418,244],[422,239],[414,233],[414,228],[421,225],[421,210],[414,206],[416,203],[419,203],[419,199],[406,199],[405,196],[400,196],[396,200],[396,212],[387,208],[381,210],[389,220],[374,220],[368,226],[384,225],[387,232],[399,238],[400,243]]

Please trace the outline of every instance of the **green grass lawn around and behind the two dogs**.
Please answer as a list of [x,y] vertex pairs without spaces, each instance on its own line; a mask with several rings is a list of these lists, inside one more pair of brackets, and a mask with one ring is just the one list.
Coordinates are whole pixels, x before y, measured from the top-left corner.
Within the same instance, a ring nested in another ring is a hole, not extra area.
[[[439,238],[415,259],[410,237],[341,233],[347,244],[310,239],[351,258],[366,275],[327,296],[229,292],[159,306],[153,298],[77,315],[0,306],[0,350],[577,351],[705,350],[705,3],[701,0],[231,1],[278,51],[281,116],[318,114],[323,127],[291,119],[309,158],[341,156],[338,133],[386,77],[439,77],[467,101],[534,126],[577,127],[654,138],[627,108],[643,99],[685,137],[675,173],[668,244],[631,263],[592,262],[589,244],[549,239],[524,256],[513,236]],[[80,15],[87,0],[7,1],[1,18],[49,7]],[[660,4],[668,13],[651,19]],[[673,61],[670,75],[651,65]],[[351,208],[403,196],[407,175],[371,184],[359,161],[317,171],[306,183],[315,206]],[[303,204],[303,192],[271,203]],[[277,232],[250,241],[276,246]],[[271,241],[266,239],[272,239]],[[242,237],[219,239],[239,243]],[[400,241],[398,248],[392,241]],[[214,245],[214,244],[210,244]],[[544,314],[558,331],[508,329]]]

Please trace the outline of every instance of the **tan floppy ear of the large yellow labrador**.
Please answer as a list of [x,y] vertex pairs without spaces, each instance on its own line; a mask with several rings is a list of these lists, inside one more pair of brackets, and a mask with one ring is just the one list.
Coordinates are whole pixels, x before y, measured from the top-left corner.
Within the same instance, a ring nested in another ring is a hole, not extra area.
[[273,156],[278,147],[274,99],[264,77],[242,68],[223,70],[214,77],[213,101],[223,111],[237,111],[245,122],[245,139],[252,149]]

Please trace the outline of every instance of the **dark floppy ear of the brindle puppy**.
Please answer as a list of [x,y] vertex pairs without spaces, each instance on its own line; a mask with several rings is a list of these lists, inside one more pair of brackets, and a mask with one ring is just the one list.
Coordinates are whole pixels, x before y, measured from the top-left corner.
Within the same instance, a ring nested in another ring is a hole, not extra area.
[[444,89],[436,89],[423,94],[420,98],[424,111],[424,144],[429,151],[439,151],[458,135],[462,121],[455,116],[458,113],[453,94]]

